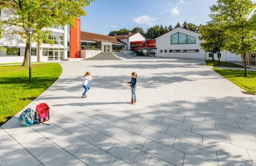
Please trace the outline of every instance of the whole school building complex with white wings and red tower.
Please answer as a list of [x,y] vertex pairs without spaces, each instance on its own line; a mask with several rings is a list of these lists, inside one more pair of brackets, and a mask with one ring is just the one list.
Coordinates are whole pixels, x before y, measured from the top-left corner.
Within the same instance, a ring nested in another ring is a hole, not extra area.
[[[4,15],[3,9],[0,17]],[[36,61],[60,61],[72,59],[91,58],[101,52],[116,52],[122,50],[136,53],[140,56],[161,56],[169,58],[195,58],[218,59],[217,54],[206,53],[201,49],[198,37],[199,33],[191,32],[183,28],[176,28],[161,35],[155,40],[146,40],[140,33],[109,36],[81,31],[81,20],[75,19],[76,28],[70,25],[48,27],[45,30],[52,31],[54,44],[42,43],[37,46],[32,43],[32,62]],[[8,27],[4,27],[8,30]],[[14,27],[15,29],[15,27]],[[21,63],[24,59],[26,42],[19,35],[11,33],[3,34],[0,46],[7,51],[0,50],[0,63]],[[227,51],[221,51],[221,61],[242,61],[241,55],[235,55]],[[255,54],[247,55],[248,64],[255,64]]]

